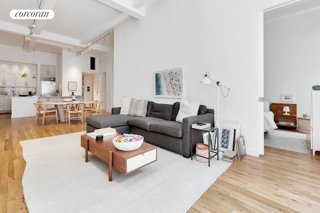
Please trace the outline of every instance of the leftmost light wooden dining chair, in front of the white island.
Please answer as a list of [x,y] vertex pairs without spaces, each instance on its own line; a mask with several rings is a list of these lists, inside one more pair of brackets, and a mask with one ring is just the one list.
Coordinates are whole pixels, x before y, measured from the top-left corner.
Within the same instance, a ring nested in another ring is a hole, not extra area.
[[35,124],[37,124],[38,119],[42,119],[42,126],[44,125],[45,119],[48,119],[48,123],[50,123],[50,118],[55,117],[56,123],[58,123],[58,113],[54,108],[49,108],[51,104],[43,104],[43,103],[33,103],[36,112],[35,112]]

